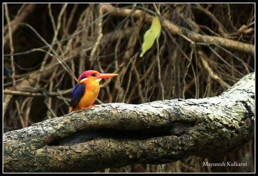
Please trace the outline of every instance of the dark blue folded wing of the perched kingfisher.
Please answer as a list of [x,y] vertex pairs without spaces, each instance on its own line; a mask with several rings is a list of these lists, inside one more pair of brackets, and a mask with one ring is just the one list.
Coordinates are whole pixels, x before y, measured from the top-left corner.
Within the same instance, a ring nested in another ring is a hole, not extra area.
[[85,92],[86,85],[85,84],[77,84],[71,92],[71,102],[70,106],[74,109],[79,103],[81,97]]

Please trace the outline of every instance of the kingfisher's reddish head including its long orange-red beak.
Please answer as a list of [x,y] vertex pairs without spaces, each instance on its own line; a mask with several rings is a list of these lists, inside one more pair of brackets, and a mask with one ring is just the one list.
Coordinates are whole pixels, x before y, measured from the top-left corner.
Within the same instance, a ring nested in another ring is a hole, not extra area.
[[96,81],[99,82],[102,78],[111,78],[117,76],[113,73],[99,73],[95,70],[84,71],[78,78],[79,83],[84,83],[85,81]]

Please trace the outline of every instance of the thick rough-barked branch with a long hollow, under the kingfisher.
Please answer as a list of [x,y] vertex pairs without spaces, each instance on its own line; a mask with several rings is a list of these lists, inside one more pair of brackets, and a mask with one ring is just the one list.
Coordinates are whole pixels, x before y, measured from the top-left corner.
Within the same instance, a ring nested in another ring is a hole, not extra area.
[[251,140],[254,112],[254,73],[212,98],[102,104],[4,133],[4,172],[94,172],[223,155]]

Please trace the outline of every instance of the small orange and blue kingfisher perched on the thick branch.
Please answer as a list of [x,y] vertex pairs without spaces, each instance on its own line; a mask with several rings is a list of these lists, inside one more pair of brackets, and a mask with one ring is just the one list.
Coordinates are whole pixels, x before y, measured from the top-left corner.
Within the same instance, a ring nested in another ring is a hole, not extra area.
[[84,71],[78,78],[78,84],[72,89],[69,113],[74,110],[94,107],[93,103],[98,96],[101,79],[115,76],[117,76],[115,73],[99,73],[95,70]]

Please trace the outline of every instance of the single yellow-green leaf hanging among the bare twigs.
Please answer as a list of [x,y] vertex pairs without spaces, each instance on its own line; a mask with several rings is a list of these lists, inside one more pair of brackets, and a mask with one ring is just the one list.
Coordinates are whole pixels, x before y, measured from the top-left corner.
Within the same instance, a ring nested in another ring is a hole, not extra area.
[[142,51],[140,57],[151,48],[154,44],[156,38],[159,36],[161,32],[161,22],[159,21],[159,17],[154,17],[151,23],[151,27],[147,30],[143,37]]

